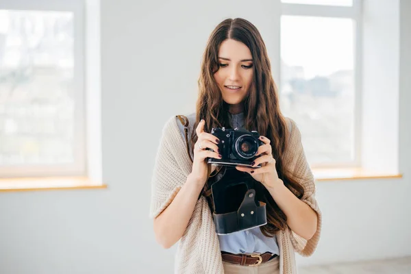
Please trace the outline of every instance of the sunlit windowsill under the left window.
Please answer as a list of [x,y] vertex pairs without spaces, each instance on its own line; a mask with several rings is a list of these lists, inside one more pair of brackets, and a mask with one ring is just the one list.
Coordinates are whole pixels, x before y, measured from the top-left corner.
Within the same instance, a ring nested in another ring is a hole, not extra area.
[[1,178],[0,192],[107,188],[87,177]]

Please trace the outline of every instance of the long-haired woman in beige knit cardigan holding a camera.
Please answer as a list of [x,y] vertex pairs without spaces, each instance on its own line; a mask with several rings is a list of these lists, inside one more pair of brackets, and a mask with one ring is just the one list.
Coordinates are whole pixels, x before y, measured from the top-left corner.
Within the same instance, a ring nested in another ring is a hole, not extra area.
[[[295,251],[310,256],[318,244],[321,212],[301,134],[279,110],[266,47],[249,21],[227,19],[212,32],[197,112],[188,120],[188,149],[179,120],[166,123],[152,182],[155,238],[164,248],[179,240],[175,272],[296,273]],[[211,172],[206,159],[221,158],[212,127],[244,127],[262,135],[253,163],[262,167],[236,169],[260,182],[256,196],[266,203],[266,225],[216,234],[210,199],[201,195]]]

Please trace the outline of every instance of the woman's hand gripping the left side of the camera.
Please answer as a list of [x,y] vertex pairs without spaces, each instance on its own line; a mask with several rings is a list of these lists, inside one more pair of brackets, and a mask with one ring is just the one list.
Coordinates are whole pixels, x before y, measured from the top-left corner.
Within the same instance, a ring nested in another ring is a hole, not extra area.
[[[195,132],[197,133],[197,142],[194,146],[194,159],[192,160],[191,175],[195,178],[196,182],[203,186],[206,184],[208,177],[208,164],[207,158],[221,159],[219,154],[219,147],[217,144],[220,142],[216,136],[204,132],[204,124],[206,122],[201,120]],[[210,151],[208,149],[212,149]]]

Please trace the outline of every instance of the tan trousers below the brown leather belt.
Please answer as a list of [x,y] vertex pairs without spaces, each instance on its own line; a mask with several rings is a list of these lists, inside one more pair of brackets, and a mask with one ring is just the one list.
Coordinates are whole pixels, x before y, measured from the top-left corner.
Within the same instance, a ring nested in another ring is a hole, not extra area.
[[224,274],[278,274],[279,273],[279,257],[269,260],[259,266],[242,266],[240,264],[232,264],[224,262]]

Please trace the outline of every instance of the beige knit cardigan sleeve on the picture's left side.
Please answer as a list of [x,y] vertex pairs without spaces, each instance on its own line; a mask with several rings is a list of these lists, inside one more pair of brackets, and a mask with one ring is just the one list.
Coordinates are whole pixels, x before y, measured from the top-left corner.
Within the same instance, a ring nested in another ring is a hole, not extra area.
[[186,172],[182,170],[181,160],[178,159],[178,151],[184,149],[184,143],[175,120],[173,116],[164,125],[155,157],[151,177],[151,219],[160,215],[170,205],[187,178]]

